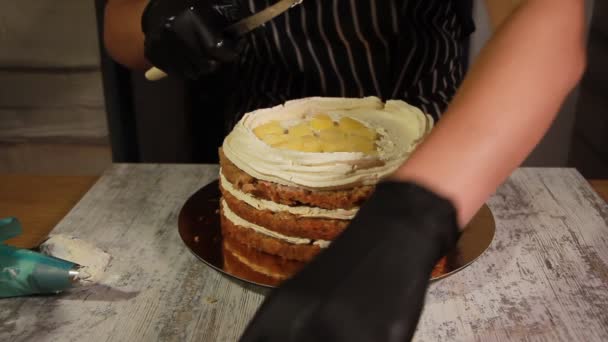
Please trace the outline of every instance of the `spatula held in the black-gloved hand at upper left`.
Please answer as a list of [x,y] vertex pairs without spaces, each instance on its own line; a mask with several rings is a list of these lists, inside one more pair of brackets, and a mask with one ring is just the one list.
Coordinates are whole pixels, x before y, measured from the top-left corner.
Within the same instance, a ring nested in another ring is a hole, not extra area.
[[[268,6],[254,15],[228,26],[228,28],[226,28],[226,33],[233,37],[243,36],[274,19],[276,16],[284,13],[288,9],[301,4],[302,1],[303,0],[280,0],[274,5]],[[146,79],[149,81],[160,80],[166,76],[167,74],[164,71],[156,67],[152,67],[146,71]]]

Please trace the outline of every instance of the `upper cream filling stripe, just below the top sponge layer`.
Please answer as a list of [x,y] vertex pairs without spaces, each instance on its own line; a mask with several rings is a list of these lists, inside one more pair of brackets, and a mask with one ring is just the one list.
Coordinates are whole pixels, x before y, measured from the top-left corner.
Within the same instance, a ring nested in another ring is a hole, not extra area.
[[290,214],[303,216],[303,217],[322,217],[332,218],[338,220],[350,220],[352,219],[359,208],[353,209],[323,209],[318,207],[309,206],[288,206],[285,204],[276,203],[273,201],[256,198],[251,194],[242,192],[236,189],[228,179],[222,173],[220,169],[220,184],[228,191],[232,196],[240,201],[243,201],[250,206],[258,210],[269,210],[272,212],[288,212]]

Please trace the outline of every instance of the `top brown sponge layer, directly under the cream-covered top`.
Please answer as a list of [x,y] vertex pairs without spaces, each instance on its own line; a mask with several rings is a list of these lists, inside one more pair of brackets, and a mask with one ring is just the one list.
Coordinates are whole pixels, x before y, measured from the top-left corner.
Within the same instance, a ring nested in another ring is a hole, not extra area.
[[312,206],[324,209],[358,208],[374,191],[365,185],[344,190],[308,190],[256,179],[238,167],[219,151],[222,174],[238,190],[265,200],[290,206]]

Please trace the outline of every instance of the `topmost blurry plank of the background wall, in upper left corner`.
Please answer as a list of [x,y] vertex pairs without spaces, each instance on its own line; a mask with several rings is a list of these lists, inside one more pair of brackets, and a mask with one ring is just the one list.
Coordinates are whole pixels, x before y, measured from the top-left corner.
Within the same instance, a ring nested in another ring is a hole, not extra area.
[[93,1],[0,3],[0,67],[99,65]]

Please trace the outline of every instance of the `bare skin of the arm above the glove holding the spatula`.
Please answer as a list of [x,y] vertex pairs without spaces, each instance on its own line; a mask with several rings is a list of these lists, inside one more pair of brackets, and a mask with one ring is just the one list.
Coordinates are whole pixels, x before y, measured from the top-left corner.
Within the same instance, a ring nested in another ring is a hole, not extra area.
[[141,16],[148,0],[108,0],[104,15],[103,40],[108,54],[131,69],[151,65],[144,57]]

